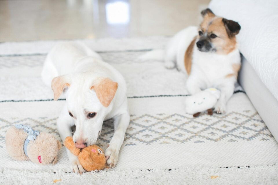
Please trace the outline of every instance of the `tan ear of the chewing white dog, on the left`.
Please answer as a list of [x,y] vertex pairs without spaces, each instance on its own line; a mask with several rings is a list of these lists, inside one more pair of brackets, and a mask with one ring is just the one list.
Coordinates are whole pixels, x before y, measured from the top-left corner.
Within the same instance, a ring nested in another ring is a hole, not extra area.
[[61,75],[52,79],[51,88],[54,92],[54,100],[57,100],[61,96],[64,88],[69,87],[70,83],[69,75]]

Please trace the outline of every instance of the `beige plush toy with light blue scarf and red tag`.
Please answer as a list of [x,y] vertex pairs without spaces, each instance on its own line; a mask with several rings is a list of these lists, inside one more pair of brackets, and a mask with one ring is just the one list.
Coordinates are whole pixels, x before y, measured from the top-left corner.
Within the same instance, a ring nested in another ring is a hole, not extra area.
[[6,149],[15,160],[31,160],[36,164],[55,164],[61,143],[47,132],[15,125],[6,132]]

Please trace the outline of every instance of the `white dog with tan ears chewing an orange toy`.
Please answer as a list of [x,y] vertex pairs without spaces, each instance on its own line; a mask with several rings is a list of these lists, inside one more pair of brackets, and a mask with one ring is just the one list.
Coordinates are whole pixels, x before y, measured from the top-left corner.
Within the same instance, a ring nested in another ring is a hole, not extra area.
[[[93,145],[106,119],[114,119],[114,135],[105,151],[107,164],[114,167],[129,125],[126,83],[122,75],[101,57],[80,43],[58,44],[48,53],[42,71],[45,84],[51,85],[54,100],[64,92],[66,103],[57,121],[64,141],[72,136],[75,146]],[[53,79],[53,80],[52,80]],[[69,150],[71,169],[85,170]]]

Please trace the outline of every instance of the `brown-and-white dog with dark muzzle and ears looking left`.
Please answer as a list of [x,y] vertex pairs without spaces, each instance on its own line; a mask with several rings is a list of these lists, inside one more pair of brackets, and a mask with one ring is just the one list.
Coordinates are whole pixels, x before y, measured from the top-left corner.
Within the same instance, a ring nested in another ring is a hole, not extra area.
[[204,19],[200,27],[191,26],[178,32],[168,43],[164,54],[158,50],[150,51],[140,59],[160,59],[164,56],[166,68],[176,66],[187,74],[186,88],[190,94],[209,87],[218,88],[221,95],[215,110],[224,114],[240,69],[240,53],[235,37],[240,25],[216,16],[209,8],[201,14]]

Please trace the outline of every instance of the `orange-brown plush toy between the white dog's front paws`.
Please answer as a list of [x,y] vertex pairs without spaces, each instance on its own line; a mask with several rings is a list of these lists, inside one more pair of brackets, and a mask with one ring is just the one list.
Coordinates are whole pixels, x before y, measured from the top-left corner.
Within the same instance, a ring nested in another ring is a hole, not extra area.
[[109,168],[106,164],[104,152],[97,145],[90,145],[79,149],[75,147],[72,137],[67,137],[64,145],[75,156],[78,156],[78,160],[85,170],[94,171]]

